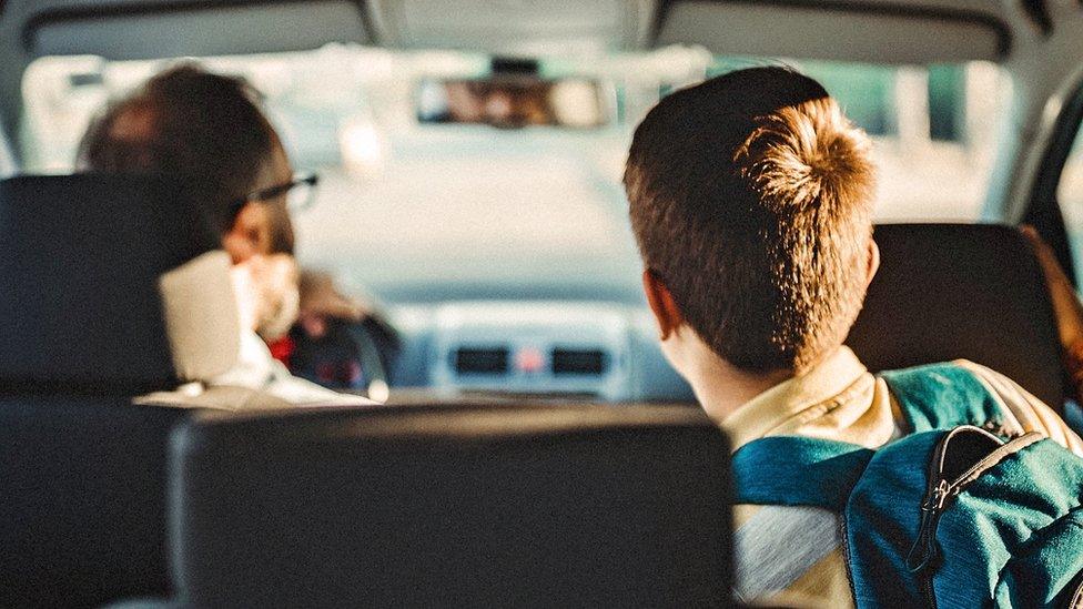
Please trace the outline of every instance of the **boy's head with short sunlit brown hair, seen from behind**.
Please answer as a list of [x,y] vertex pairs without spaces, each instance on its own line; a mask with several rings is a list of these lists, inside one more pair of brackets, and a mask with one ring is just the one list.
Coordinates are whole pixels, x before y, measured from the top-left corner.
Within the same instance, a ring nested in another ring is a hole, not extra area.
[[687,324],[749,373],[800,374],[841,345],[878,260],[873,173],[864,133],[792,70],[665,98],[625,171],[664,337]]

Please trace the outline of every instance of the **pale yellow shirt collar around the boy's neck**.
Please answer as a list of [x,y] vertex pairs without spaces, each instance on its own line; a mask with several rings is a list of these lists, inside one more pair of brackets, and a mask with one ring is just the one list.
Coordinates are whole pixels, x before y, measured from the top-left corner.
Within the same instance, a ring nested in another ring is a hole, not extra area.
[[839,347],[801,376],[767,389],[722,419],[732,449],[768,435],[802,410],[832,399],[867,372],[849,347]]

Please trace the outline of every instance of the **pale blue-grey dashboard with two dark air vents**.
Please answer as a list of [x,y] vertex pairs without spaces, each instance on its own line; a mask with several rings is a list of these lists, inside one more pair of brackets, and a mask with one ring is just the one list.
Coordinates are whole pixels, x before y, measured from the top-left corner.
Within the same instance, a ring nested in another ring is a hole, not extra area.
[[600,402],[691,402],[642,306],[464,301],[387,312],[399,333],[392,385]]

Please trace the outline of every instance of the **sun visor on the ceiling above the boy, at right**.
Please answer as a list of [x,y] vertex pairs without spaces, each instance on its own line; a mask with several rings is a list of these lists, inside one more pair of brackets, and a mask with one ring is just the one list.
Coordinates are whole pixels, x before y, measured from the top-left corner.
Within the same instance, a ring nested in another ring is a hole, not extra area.
[[723,55],[924,65],[1001,61],[1011,39],[1003,23],[980,12],[699,0],[667,4],[656,43],[702,44]]

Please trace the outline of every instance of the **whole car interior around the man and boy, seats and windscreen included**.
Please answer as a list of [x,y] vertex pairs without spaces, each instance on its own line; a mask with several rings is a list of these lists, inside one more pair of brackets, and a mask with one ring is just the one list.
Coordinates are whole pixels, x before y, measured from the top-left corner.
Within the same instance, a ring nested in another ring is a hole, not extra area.
[[[970,359],[1083,430],[1018,230],[1075,281],[1081,34],[1046,0],[0,0],[0,607],[736,605],[728,441],[656,344],[620,172],[740,67],[873,136],[869,369]],[[185,58],[318,171],[297,258],[368,303],[336,388],[374,403],[153,398],[236,363],[229,257],[175,176],[75,148]]]

